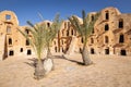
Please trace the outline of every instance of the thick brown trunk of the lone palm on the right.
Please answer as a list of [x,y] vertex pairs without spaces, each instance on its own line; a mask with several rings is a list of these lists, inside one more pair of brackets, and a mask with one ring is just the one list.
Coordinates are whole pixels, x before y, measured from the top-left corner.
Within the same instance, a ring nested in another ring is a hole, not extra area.
[[87,49],[86,49],[86,45],[83,46],[83,50],[82,50],[82,59],[83,59],[83,64],[84,65],[90,65],[93,63],[93,61],[91,61]]

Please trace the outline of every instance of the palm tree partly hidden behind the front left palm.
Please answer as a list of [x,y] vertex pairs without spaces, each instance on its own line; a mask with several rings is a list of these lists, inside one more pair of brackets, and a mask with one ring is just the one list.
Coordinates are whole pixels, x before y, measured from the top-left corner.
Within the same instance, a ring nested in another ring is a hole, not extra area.
[[[45,39],[46,39],[46,47],[47,47],[47,59],[52,60],[52,54],[50,51],[50,44],[52,44],[52,40],[55,39],[56,35],[58,34],[60,27],[61,27],[62,21],[59,20],[59,14],[55,16],[55,20],[50,26],[45,29]],[[52,60],[53,63],[53,60]],[[52,70],[55,69],[55,64],[52,64]]]

